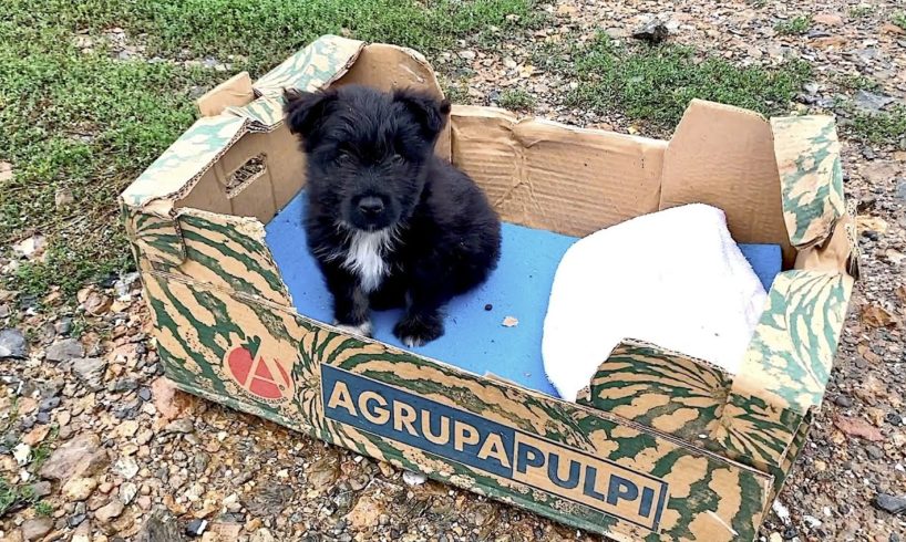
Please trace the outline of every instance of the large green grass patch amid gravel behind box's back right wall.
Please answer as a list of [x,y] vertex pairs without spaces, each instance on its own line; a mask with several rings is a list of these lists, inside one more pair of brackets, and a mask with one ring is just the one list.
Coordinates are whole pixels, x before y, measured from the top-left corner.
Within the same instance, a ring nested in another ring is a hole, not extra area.
[[803,62],[747,67],[722,58],[702,59],[681,45],[621,48],[606,34],[564,58],[575,60],[573,75],[579,82],[570,105],[619,112],[662,128],[672,128],[692,98],[765,115],[786,113],[811,73]]

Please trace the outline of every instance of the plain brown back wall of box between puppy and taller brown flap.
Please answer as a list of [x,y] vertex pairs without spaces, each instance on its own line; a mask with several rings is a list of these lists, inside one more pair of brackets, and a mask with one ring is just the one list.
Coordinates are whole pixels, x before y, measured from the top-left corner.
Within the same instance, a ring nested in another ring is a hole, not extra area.
[[453,112],[453,161],[504,220],[585,236],[657,210],[665,144],[491,108]]

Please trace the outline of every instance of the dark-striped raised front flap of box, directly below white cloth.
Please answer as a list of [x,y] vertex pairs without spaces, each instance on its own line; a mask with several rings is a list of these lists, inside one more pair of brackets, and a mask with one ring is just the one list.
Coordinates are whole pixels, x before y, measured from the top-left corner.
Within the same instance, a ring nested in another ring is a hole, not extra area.
[[701,359],[627,340],[598,367],[587,404],[703,446],[731,384],[729,375]]

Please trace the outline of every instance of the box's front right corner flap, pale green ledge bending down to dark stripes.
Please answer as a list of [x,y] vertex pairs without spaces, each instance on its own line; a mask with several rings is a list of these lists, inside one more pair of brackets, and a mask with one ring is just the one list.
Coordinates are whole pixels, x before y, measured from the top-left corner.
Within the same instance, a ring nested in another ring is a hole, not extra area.
[[845,274],[812,271],[774,280],[714,434],[730,457],[760,468],[783,461],[821,405],[852,286]]

